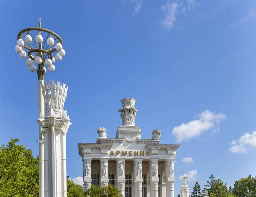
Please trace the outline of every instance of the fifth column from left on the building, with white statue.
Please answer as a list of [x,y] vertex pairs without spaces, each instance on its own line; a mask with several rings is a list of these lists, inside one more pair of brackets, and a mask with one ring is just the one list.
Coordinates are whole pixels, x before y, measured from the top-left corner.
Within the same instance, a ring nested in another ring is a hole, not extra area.
[[150,174],[151,174],[151,197],[158,197],[158,160],[151,159],[150,161]]

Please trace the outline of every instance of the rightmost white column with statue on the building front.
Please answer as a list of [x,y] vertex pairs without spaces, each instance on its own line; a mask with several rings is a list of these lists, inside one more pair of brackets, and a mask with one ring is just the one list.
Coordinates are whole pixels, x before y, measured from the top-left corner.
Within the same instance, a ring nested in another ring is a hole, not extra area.
[[166,165],[166,175],[167,175],[167,197],[175,197],[174,196],[174,183],[175,183],[175,177],[174,177],[174,160],[175,159],[167,159],[167,165]]

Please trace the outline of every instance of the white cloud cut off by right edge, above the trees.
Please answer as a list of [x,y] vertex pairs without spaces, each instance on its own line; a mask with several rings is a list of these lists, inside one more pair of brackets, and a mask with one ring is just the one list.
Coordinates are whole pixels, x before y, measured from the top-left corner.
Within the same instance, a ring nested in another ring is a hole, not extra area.
[[229,151],[232,153],[246,153],[248,148],[256,148],[256,131],[253,133],[244,133],[238,141],[233,139],[230,143]]

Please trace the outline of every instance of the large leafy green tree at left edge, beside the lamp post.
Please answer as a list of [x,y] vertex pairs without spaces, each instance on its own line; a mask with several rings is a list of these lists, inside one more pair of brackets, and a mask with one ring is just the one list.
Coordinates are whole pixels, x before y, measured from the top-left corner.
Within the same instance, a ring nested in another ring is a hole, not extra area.
[[39,157],[19,139],[0,145],[0,196],[36,197],[39,195]]

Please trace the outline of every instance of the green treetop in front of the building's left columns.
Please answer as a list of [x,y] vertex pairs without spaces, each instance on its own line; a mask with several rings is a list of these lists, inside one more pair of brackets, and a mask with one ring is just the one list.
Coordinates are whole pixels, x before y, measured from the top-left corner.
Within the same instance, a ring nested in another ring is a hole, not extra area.
[[103,188],[91,185],[90,189],[85,192],[86,197],[123,197],[121,191],[113,187],[111,184]]

